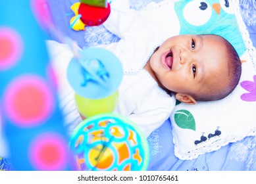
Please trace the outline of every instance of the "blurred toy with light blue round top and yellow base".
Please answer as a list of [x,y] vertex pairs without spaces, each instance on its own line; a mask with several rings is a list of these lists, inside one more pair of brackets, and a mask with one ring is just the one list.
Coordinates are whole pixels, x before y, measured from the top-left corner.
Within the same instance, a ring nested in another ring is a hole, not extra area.
[[82,116],[86,118],[115,109],[122,65],[113,53],[100,48],[84,49],[80,58],[70,61],[67,75]]

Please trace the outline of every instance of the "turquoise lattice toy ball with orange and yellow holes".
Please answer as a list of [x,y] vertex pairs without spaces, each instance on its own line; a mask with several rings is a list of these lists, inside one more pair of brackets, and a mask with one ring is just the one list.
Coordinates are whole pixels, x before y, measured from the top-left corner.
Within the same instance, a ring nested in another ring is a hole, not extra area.
[[117,114],[87,118],[70,139],[77,170],[146,170],[145,137],[130,120]]

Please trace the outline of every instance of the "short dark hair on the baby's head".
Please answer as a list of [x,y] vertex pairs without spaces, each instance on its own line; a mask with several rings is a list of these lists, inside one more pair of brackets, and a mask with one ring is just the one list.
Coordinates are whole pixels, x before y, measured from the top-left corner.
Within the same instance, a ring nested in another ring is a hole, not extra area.
[[228,40],[224,39],[224,37],[221,37],[220,35],[217,36],[220,37],[220,39],[223,41],[228,54],[228,83],[225,89],[217,89],[216,87],[215,89],[211,89],[211,87],[207,89],[207,87],[205,87],[207,91],[206,93],[200,94],[199,92],[194,95],[194,98],[197,101],[215,101],[223,99],[224,97],[228,96],[232,91],[234,91],[241,77],[241,60],[238,56],[238,53],[236,52],[236,49],[234,49],[231,43]]

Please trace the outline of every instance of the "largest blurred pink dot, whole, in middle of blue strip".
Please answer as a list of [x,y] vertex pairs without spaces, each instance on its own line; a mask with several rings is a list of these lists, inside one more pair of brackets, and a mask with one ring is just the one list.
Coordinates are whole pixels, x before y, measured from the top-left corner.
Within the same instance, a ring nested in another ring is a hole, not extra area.
[[53,95],[39,76],[16,78],[7,87],[4,97],[7,116],[16,126],[38,126],[53,111]]

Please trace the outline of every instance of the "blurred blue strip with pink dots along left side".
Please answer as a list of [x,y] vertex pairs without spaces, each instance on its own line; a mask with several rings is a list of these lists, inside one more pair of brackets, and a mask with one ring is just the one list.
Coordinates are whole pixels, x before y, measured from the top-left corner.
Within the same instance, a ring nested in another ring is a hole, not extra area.
[[[47,4],[9,0],[1,6],[0,127],[9,150],[5,157],[12,170],[70,170],[68,136],[41,29],[52,24]],[[0,170],[9,170],[6,164],[0,158]]]

